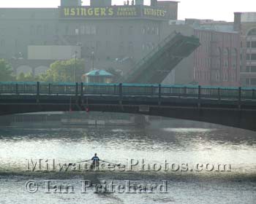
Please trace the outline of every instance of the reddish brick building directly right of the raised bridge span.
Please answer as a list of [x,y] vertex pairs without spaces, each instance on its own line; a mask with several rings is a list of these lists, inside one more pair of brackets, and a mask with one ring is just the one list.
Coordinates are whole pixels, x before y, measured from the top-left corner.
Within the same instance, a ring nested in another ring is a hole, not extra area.
[[164,83],[240,85],[240,34],[233,30],[233,23],[187,19],[170,21],[173,28],[197,36],[201,45],[176,66]]

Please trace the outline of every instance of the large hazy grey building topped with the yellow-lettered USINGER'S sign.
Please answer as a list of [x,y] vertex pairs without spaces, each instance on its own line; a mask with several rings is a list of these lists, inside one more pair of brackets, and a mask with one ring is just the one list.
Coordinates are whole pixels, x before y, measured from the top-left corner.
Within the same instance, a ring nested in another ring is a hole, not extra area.
[[[115,6],[111,0],[91,0],[91,6],[84,7],[80,0],[61,0],[58,8],[0,8],[0,58],[18,65],[15,60],[30,58],[28,47],[42,51],[44,46],[78,46],[87,67],[94,52],[96,67],[129,68],[131,63],[122,59],[136,63],[143,58],[165,37],[165,22],[177,19],[178,1],[151,3]],[[21,66],[15,67],[16,73],[26,72],[29,64]],[[35,69],[29,71],[40,72]]]

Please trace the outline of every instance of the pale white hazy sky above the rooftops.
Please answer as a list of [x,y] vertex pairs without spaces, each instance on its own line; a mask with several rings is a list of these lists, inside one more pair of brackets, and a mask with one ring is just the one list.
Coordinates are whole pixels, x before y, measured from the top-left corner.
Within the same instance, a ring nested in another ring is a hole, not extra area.
[[[130,0],[131,1],[131,0]],[[123,4],[124,0],[113,0]],[[150,0],[145,0],[149,4]],[[89,4],[89,0],[83,0]],[[0,7],[58,7],[60,0],[0,0]],[[233,21],[233,12],[256,12],[255,0],[180,0],[178,19],[202,18]]]

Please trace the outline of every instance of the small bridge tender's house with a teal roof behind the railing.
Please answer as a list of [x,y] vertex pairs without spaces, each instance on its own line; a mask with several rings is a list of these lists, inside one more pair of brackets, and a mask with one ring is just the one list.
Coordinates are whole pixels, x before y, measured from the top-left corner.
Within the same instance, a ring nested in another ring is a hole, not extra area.
[[111,83],[113,74],[105,70],[92,70],[83,75],[83,82],[86,83]]

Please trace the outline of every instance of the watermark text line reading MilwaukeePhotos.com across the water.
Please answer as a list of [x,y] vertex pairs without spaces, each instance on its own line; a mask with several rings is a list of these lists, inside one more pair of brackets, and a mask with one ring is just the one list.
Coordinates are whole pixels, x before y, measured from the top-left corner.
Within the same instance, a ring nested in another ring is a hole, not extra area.
[[168,160],[163,162],[147,162],[145,159],[127,159],[123,163],[99,162],[99,165],[92,166],[91,162],[66,163],[58,162],[55,159],[27,159],[26,171],[231,171],[230,164],[223,163],[196,163],[189,162],[173,163]]

